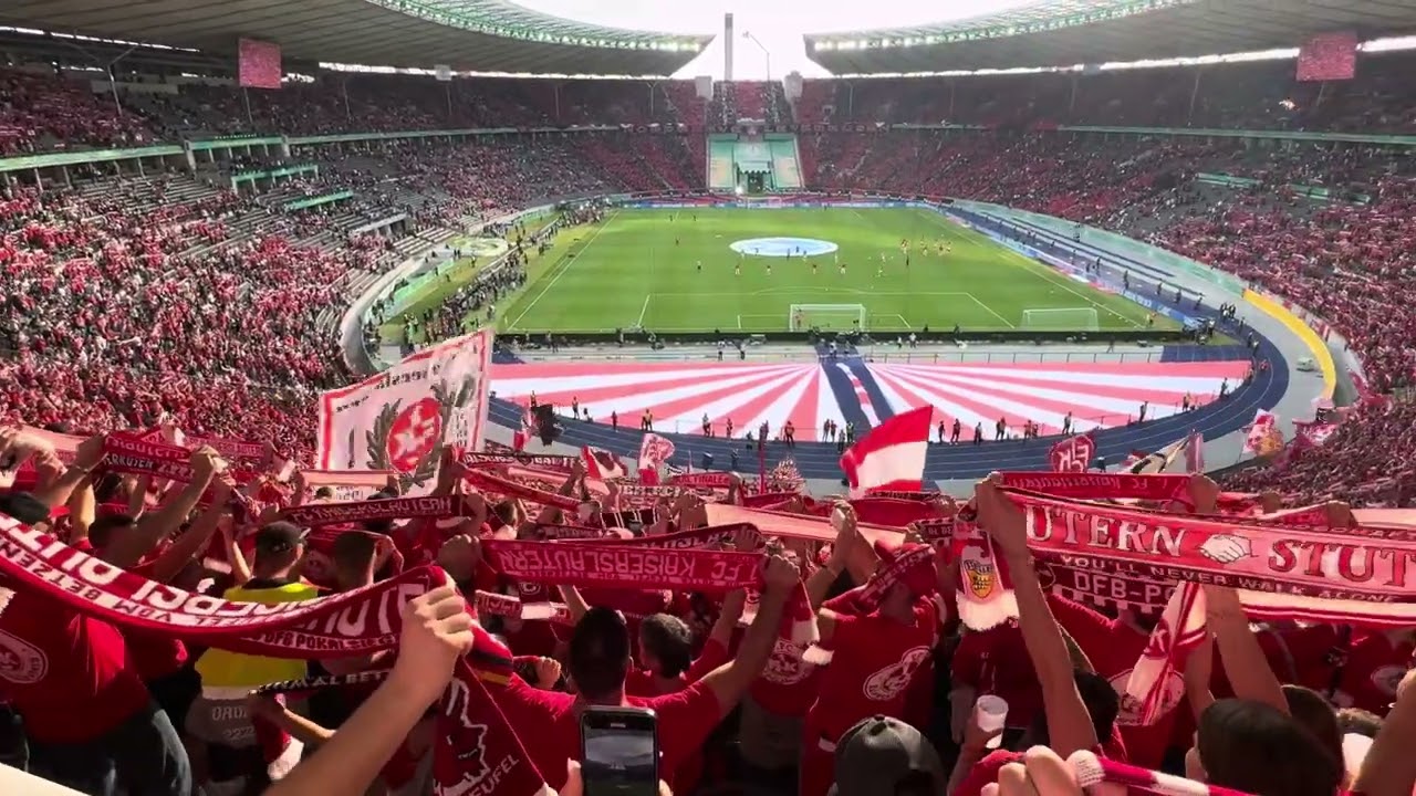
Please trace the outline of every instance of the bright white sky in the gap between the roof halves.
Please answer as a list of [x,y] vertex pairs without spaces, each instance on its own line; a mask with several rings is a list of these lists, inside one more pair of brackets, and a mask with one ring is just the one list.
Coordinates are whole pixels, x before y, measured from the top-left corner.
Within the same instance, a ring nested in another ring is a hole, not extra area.
[[[515,0],[518,6],[555,14],[568,20],[623,28],[663,33],[716,33],[718,37],[675,78],[712,75],[724,79],[722,16],[733,16],[736,41],[732,69],[736,79],[760,81],[767,76],[767,55],[772,57],[772,78],[780,79],[792,71],[803,76],[826,76],[828,72],[806,57],[801,35],[807,33],[843,33],[862,28],[916,25],[981,17],[1008,8],[1035,6],[1039,0],[952,0],[920,3],[919,0]],[[743,38],[750,33],[762,42],[759,48]]]

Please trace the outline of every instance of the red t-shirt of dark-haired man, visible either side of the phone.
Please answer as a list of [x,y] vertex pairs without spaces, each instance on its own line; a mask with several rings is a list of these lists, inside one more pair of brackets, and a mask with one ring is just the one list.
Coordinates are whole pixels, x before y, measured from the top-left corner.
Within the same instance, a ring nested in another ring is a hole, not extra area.
[[[545,783],[556,790],[565,788],[565,761],[581,759],[582,703],[571,694],[532,688],[520,677],[490,691],[511,727],[530,741],[527,754]],[[718,695],[702,681],[663,697],[626,697],[624,704],[649,708],[658,718],[658,775],[668,782],[722,717]]]

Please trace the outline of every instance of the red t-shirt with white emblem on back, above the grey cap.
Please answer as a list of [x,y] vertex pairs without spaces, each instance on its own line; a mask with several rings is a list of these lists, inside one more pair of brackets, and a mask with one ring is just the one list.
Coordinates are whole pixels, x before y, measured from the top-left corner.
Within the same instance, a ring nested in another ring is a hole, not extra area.
[[818,698],[807,712],[809,734],[833,744],[872,715],[905,718],[905,694],[939,633],[939,612],[929,598],[915,601],[913,623],[878,612],[840,615],[831,637],[831,664],[821,674]]

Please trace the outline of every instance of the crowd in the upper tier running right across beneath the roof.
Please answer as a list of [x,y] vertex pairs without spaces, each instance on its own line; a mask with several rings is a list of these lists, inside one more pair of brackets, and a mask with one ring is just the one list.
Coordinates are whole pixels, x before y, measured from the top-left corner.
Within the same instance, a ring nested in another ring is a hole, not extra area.
[[[86,64],[85,64],[86,67]],[[123,72],[132,68],[133,74]],[[173,92],[95,92],[92,76],[52,64],[0,71],[0,153],[139,146],[231,135],[327,135],[463,127],[609,125],[950,123],[993,129],[1058,125],[1410,132],[1409,52],[1362,57],[1357,79],[1304,84],[1291,61],[1096,75],[807,79],[789,101],[780,81],[592,81],[321,72],[280,91],[242,91],[191,76],[159,78],[125,59],[119,84],[171,81]],[[1198,75],[1197,75],[1198,71]],[[1197,79],[1198,78],[1198,79]]]

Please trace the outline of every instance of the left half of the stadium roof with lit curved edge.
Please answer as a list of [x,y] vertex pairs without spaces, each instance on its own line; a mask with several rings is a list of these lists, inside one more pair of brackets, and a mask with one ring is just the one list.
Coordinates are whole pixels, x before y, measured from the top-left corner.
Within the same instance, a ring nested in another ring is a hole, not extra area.
[[573,23],[508,0],[4,0],[0,24],[286,59],[457,71],[668,75],[709,35]]

